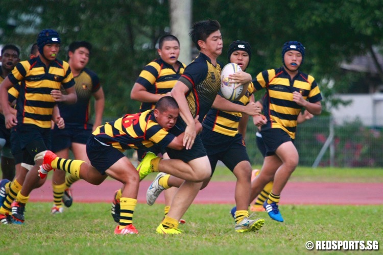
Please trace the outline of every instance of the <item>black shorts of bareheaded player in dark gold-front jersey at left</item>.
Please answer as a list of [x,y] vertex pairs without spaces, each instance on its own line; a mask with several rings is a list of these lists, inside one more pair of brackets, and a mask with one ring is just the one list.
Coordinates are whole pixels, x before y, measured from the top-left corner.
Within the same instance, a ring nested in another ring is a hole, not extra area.
[[59,129],[55,125],[52,130],[52,151],[57,152],[66,148],[70,148],[72,143],[86,144],[89,136],[92,134],[92,127],[84,129],[83,125],[65,124],[64,129]]

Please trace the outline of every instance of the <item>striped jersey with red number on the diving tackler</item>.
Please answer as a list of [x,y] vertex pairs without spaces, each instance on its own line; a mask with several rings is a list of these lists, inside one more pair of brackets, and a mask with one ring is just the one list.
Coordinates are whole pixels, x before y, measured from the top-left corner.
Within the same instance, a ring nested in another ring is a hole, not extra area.
[[154,144],[165,148],[174,135],[163,129],[156,121],[153,110],[142,113],[127,114],[94,130],[95,138],[106,145],[124,151],[135,148],[143,149]]

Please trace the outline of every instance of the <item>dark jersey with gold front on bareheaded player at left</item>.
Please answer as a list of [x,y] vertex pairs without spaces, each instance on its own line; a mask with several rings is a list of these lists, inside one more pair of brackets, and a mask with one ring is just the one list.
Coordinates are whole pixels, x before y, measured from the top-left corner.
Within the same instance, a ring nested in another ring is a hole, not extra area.
[[[65,124],[89,124],[89,104],[92,94],[97,92],[100,88],[100,79],[93,71],[84,68],[75,80],[75,89],[77,94],[76,104],[59,103],[60,115],[64,119]],[[65,90],[61,88],[61,92],[66,94]]]

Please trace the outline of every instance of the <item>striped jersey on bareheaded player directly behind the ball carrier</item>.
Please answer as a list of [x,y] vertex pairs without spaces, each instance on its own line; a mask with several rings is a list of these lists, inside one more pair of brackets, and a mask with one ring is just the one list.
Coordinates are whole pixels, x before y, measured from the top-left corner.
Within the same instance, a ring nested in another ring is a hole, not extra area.
[[[152,94],[166,94],[170,92],[185,69],[185,64],[177,61],[178,71],[161,58],[155,59],[143,68],[136,83],[141,84]],[[154,109],[156,103],[141,103],[140,112]]]

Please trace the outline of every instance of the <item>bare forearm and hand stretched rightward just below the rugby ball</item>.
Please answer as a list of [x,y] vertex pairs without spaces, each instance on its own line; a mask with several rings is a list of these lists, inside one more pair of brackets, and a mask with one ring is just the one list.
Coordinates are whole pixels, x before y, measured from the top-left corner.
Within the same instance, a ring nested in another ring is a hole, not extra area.
[[238,105],[220,95],[217,95],[216,99],[214,99],[212,108],[226,112],[241,112],[248,115],[259,115],[260,113],[259,107],[253,102],[250,102],[247,106]]

